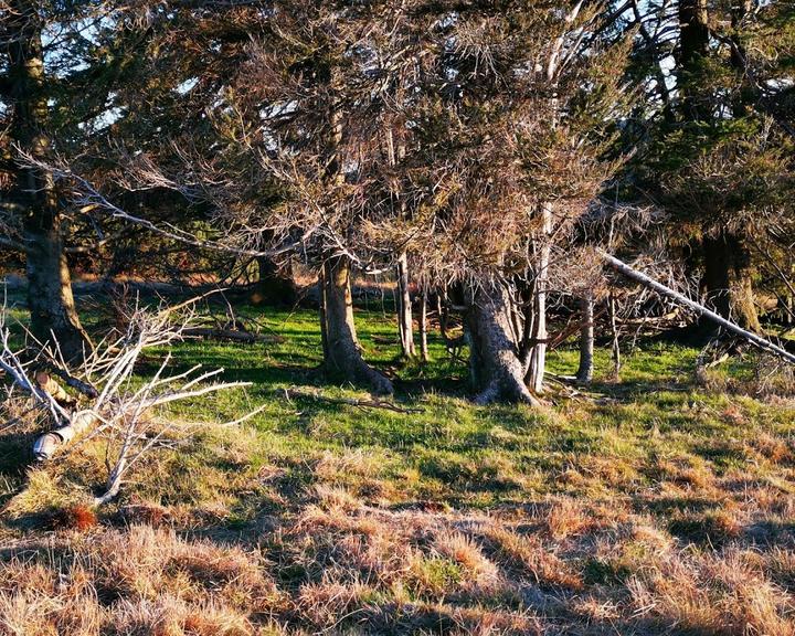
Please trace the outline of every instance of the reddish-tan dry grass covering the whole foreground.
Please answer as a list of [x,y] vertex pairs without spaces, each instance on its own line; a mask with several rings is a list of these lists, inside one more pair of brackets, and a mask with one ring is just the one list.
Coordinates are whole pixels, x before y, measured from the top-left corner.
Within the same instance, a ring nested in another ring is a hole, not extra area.
[[[191,506],[128,498],[97,516],[68,462],[30,471],[4,507],[0,635],[795,635],[787,437],[721,442],[749,458],[722,471],[687,453],[586,456],[560,483],[607,497],[477,511],[404,505],[404,474],[390,481],[370,452],[243,470],[254,438],[229,435],[170,481]],[[151,466],[149,489],[166,478]],[[256,516],[234,530],[224,501],[246,498]]]

